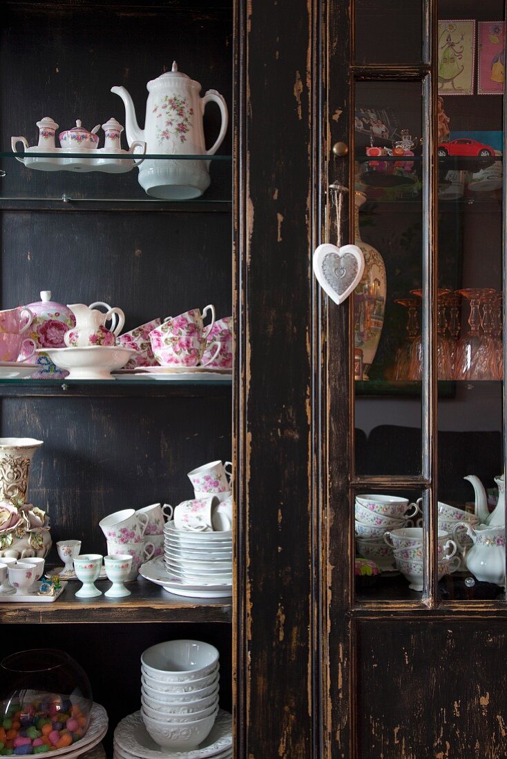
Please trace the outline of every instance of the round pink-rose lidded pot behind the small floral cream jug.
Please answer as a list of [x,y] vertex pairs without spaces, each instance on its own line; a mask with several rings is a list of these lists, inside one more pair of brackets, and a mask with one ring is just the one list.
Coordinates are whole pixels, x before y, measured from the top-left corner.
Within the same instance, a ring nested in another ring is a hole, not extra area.
[[[50,290],[43,290],[40,301],[30,303],[28,308],[33,313],[28,337],[37,348],[65,348],[63,336],[76,324],[70,308],[52,301]],[[68,375],[68,371],[56,367],[46,353],[38,354],[36,361],[40,369],[32,374],[33,379],[64,379]]]

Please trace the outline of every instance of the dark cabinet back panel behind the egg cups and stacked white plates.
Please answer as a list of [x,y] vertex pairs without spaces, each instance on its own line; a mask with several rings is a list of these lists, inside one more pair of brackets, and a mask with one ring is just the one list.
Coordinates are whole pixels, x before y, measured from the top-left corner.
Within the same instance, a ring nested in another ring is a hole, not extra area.
[[98,522],[119,509],[192,498],[186,473],[230,460],[227,398],[5,398],[2,434],[44,441],[30,499],[49,511],[52,539],[103,553]]

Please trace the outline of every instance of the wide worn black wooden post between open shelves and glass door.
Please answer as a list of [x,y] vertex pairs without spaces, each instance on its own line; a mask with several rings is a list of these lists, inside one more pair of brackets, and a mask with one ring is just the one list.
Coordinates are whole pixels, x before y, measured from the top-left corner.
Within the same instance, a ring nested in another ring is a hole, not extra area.
[[250,759],[312,755],[312,11],[253,0],[242,17],[239,755]]

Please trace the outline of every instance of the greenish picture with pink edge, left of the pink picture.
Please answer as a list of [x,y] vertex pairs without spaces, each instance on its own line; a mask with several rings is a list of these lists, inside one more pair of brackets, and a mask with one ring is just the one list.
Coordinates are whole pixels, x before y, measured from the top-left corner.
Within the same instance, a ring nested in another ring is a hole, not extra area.
[[439,21],[439,95],[473,95],[475,21]]

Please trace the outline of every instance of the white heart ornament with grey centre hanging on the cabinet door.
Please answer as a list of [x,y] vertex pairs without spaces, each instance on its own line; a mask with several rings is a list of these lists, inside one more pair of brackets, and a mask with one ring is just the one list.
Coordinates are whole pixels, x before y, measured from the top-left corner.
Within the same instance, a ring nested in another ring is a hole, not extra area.
[[318,284],[334,303],[347,300],[364,272],[363,251],[357,245],[337,247],[324,243],[313,254],[313,272]]

